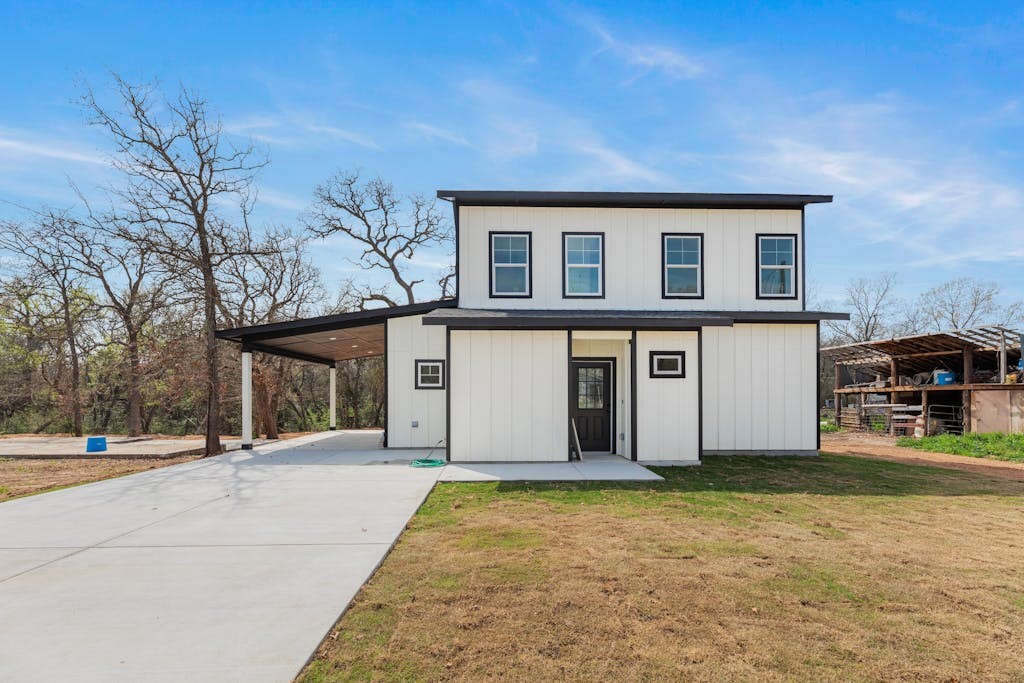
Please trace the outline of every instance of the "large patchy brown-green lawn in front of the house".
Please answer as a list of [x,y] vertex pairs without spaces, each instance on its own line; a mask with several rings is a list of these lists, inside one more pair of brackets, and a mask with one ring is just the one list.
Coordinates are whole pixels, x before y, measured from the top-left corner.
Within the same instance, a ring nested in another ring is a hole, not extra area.
[[1024,482],[843,456],[440,484],[301,681],[1024,681]]

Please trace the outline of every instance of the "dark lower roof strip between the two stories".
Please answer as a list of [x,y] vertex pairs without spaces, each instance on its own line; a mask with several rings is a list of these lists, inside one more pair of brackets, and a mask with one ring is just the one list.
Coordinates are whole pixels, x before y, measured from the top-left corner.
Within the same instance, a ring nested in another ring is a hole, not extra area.
[[678,330],[730,327],[734,323],[815,323],[848,319],[847,313],[819,311],[685,311],[685,310],[497,310],[450,308],[423,316],[424,325],[455,328],[547,330]]

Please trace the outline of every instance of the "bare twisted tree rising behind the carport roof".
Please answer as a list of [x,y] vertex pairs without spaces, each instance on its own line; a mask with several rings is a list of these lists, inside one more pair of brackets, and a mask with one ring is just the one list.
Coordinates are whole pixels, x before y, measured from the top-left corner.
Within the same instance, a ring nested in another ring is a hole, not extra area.
[[[321,238],[345,234],[362,249],[352,263],[366,270],[383,270],[401,290],[406,303],[415,303],[415,288],[423,280],[406,272],[421,247],[445,244],[451,239],[446,219],[435,202],[422,196],[398,197],[381,178],[362,181],[355,171],[342,171],[315,189],[307,218],[309,229]],[[388,288],[362,287],[359,308],[372,301],[396,305]]]

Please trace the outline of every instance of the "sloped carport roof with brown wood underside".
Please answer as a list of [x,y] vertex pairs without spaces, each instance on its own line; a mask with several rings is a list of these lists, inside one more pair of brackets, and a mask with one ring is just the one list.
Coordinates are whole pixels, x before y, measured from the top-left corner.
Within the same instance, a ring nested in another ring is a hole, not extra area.
[[383,355],[386,324],[392,317],[419,315],[455,306],[454,299],[404,306],[357,310],[217,332],[219,339],[243,348],[285,357],[333,365],[339,360]]

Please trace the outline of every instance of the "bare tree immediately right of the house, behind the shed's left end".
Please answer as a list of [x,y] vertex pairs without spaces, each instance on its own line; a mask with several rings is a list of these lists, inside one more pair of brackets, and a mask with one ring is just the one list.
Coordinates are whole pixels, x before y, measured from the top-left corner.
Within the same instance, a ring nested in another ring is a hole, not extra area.
[[900,309],[896,284],[895,272],[851,280],[843,299],[843,306],[850,311],[850,319],[825,322],[835,343],[848,344],[892,335]]

